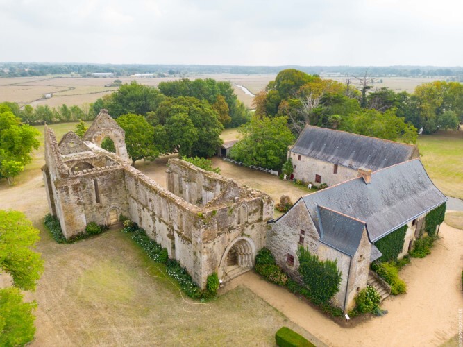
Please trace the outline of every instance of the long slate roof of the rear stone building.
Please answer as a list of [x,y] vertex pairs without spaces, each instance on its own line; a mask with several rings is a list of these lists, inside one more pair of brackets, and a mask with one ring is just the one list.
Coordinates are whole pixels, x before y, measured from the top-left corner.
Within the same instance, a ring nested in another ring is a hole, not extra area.
[[291,151],[352,169],[364,167],[372,171],[418,156],[414,145],[317,126],[305,126]]

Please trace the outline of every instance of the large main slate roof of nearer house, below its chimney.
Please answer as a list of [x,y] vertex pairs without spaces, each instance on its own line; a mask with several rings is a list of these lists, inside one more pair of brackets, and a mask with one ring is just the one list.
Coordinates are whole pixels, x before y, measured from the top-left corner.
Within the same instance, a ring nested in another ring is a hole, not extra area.
[[371,242],[385,237],[446,200],[446,196],[426,174],[419,159],[373,172],[370,184],[364,183],[361,177],[354,178],[303,196],[319,232],[317,206],[323,206],[365,221]]

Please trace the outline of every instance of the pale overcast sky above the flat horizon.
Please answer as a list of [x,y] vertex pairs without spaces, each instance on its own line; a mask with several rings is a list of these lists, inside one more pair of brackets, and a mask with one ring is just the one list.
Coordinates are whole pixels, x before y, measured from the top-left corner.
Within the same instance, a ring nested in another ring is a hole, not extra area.
[[463,65],[463,0],[0,0],[0,61]]

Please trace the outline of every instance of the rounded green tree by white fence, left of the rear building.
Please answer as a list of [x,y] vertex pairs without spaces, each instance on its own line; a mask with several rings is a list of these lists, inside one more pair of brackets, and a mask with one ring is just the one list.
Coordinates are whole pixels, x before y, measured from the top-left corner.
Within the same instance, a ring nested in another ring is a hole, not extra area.
[[294,141],[286,117],[253,117],[244,124],[240,139],[231,150],[231,156],[246,165],[280,169],[285,161],[289,144]]

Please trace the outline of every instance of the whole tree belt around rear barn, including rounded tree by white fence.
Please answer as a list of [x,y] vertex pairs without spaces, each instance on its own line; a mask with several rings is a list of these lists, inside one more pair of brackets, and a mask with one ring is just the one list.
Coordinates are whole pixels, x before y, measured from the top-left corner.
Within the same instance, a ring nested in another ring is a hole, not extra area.
[[[275,81],[255,96],[255,116],[242,126],[242,139],[231,155],[245,164],[279,169],[287,146],[305,124],[345,130],[392,141],[416,143],[420,129],[435,133],[456,129],[463,122],[463,85],[434,81],[416,87],[413,94],[372,88],[371,78],[339,83],[296,69],[280,71]],[[286,124],[287,121],[287,124]]]

